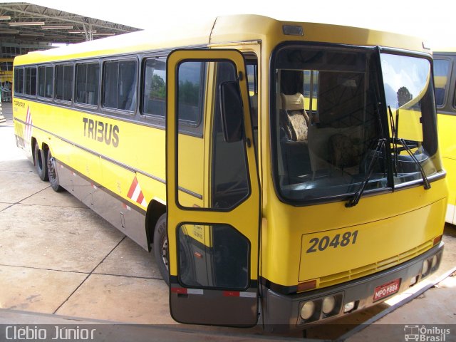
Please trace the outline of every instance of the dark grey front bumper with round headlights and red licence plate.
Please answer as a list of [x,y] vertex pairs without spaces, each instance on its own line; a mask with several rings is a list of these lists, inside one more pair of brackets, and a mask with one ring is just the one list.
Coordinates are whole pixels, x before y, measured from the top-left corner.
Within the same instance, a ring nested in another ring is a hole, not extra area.
[[[317,322],[324,323],[324,321],[329,321],[333,318],[350,314],[353,311],[379,304],[389,299],[390,296],[386,295],[374,301],[375,289],[389,283],[398,284],[398,279],[400,279],[399,289],[394,292],[394,294],[399,294],[407,290],[410,286],[427,278],[427,276],[436,271],[440,266],[443,247],[443,242],[440,242],[440,244],[432,247],[432,249],[420,256],[388,270],[336,286],[307,291],[302,294],[279,294],[261,285],[261,293],[263,294],[262,314],[264,315],[263,321],[265,328],[269,331],[304,329],[309,324]],[[437,258],[437,263],[431,267],[433,257]],[[428,271],[423,274],[423,263],[425,260],[428,261],[429,267]],[[336,304],[331,312],[325,314],[323,312],[323,299],[328,296],[333,296]],[[314,301],[314,304],[312,304],[314,314],[304,319],[301,317],[301,309],[309,301]],[[346,306],[347,304],[349,305]],[[351,308],[352,304],[353,308]]]

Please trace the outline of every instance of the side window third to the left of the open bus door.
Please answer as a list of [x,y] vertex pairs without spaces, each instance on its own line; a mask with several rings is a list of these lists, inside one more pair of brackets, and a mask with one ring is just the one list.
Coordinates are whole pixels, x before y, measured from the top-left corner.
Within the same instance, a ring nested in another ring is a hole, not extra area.
[[76,102],[98,105],[98,63],[76,64]]

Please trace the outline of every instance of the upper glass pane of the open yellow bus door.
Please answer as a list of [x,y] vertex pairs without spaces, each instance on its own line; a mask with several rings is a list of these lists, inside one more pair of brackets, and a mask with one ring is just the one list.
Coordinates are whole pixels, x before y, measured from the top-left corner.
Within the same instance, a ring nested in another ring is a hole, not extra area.
[[[198,207],[212,209],[232,209],[249,195],[247,176],[247,157],[244,141],[226,142],[222,132],[219,88],[223,82],[236,81],[237,71],[227,61],[210,63],[214,71],[214,103],[212,113],[202,108],[204,98],[204,76],[209,70],[209,63],[189,61],[181,63],[178,70],[177,88],[177,180],[180,187],[178,199],[182,207],[194,207],[195,199],[190,193],[200,195],[202,202]],[[204,115],[209,115],[207,120]],[[202,118],[199,118],[202,115]],[[203,139],[185,134],[190,123],[202,120],[210,123],[212,135]],[[209,139],[210,144],[207,143]],[[208,146],[209,145],[209,146]],[[202,163],[209,154],[207,169]],[[209,186],[208,186],[209,185]],[[204,190],[204,187],[208,188]],[[190,190],[190,191],[189,191]],[[205,196],[204,196],[205,194]]]

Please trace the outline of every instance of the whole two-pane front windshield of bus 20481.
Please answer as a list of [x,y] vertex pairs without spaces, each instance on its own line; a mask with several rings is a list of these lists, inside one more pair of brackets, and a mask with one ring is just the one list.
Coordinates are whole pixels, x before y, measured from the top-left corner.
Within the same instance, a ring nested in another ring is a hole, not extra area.
[[422,180],[417,164],[436,172],[430,62],[377,51],[294,45],[274,54],[273,160],[284,200],[386,190],[388,170],[395,185]]

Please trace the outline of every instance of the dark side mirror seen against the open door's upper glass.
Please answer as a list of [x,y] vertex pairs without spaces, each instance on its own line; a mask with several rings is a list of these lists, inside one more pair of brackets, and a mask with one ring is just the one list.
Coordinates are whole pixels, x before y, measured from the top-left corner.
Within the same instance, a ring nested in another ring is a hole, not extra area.
[[220,84],[219,90],[223,138],[226,142],[240,141],[244,133],[244,108],[239,85],[227,81]]

